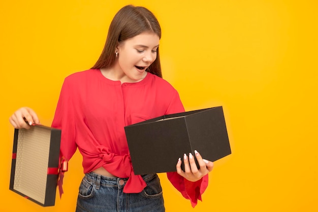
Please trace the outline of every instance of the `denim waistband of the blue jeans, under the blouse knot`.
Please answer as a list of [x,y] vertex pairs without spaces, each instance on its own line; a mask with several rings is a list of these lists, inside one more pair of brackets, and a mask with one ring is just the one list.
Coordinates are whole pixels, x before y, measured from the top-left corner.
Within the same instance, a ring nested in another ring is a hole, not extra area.
[[[143,180],[147,183],[147,181],[150,181],[153,179],[157,174],[145,174],[141,175]],[[94,172],[86,173],[84,178],[86,178],[88,181],[97,184],[98,188],[99,186],[118,186],[118,187],[124,187],[126,184],[127,178],[120,178],[120,177],[107,177],[100,174],[96,174]]]

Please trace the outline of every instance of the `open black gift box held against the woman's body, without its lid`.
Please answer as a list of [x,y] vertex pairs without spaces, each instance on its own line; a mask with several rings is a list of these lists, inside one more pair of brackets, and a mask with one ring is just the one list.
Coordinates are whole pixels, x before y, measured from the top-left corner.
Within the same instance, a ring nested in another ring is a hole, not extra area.
[[176,171],[178,158],[195,156],[195,150],[209,161],[231,154],[222,106],[164,115],[124,129],[135,174]]

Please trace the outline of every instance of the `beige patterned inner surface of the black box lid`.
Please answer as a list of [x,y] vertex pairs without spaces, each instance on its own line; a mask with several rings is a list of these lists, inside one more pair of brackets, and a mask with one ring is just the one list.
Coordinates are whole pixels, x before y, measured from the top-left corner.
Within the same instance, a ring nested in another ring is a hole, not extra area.
[[51,131],[19,129],[13,189],[44,204]]

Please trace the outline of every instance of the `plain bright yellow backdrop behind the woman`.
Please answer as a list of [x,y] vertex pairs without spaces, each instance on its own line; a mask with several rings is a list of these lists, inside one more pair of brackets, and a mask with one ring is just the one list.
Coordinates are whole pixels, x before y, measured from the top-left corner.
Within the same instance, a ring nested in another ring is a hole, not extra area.
[[63,79],[96,62],[112,17],[134,4],[161,23],[164,78],[186,110],[224,107],[233,151],[194,209],[160,174],[167,211],[318,211],[317,2],[119,2],[0,2],[0,210],[75,210],[78,153],[54,207],[9,191],[8,118],[29,106],[50,125]]

